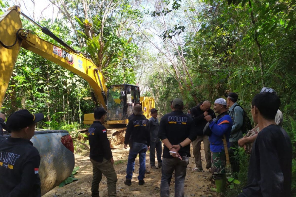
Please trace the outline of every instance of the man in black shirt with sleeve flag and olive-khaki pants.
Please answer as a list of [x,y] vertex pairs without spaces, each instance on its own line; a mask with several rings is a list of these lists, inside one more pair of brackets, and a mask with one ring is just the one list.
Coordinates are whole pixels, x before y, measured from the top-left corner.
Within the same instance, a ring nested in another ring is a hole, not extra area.
[[108,196],[116,197],[117,175],[113,167],[114,160],[107,137],[107,129],[102,125],[105,121],[105,114],[104,108],[96,108],[94,110],[95,121],[88,131],[89,158],[93,165],[92,197],[99,197],[99,184],[102,180],[102,174],[107,178]]

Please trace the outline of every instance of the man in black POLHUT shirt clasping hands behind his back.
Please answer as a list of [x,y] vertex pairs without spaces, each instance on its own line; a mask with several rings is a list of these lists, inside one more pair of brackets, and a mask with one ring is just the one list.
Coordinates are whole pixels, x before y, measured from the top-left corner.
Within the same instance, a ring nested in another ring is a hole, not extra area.
[[190,143],[196,139],[191,129],[192,118],[183,113],[181,99],[172,102],[173,111],[163,116],[159,124],[159,138],[163,144],[160,196],[170,196],[170,181],[175,171],[175,197],[184,196],[186,168],[190,157]]

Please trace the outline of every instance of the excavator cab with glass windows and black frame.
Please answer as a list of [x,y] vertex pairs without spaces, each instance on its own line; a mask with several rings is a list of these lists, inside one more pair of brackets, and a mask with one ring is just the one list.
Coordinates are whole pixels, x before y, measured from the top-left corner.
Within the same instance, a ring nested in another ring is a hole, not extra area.
[[140,102],[138,86],[112,85],[107,92],[107,124],[126,124],[133,106]]

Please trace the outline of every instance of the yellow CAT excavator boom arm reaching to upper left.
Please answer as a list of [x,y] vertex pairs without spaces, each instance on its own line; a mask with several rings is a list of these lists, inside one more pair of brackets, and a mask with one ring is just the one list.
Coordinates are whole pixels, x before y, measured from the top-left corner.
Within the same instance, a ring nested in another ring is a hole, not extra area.
[[96,65],[81,53],[60,48],[22,29],[20,8],[11,7],[0,17],[0,108],[12,75],[17,55],[23,47],[83,77],[96,94],[96,100],[106,109],[107,87]]

